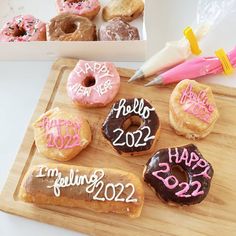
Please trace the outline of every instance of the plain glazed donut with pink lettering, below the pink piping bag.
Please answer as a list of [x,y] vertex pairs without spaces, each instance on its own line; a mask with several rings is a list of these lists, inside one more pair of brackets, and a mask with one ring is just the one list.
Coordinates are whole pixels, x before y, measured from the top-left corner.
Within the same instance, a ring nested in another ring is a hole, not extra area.
[[194,80],[183,80],[170,96],[170,124],[188,139],[206,137],[219,117],[212,90]]

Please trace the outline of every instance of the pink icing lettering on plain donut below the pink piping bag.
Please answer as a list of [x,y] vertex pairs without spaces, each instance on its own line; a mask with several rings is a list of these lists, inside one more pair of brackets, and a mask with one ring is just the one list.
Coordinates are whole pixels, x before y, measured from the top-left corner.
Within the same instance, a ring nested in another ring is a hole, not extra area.
[[182,91],[180,104],[184,106],[184,110],[189,114],[205,123],[209,123],[211,115],[214,112],[214,106],[209,104],[207,91],[201,90],[198,94],[193,91],[191,83]]

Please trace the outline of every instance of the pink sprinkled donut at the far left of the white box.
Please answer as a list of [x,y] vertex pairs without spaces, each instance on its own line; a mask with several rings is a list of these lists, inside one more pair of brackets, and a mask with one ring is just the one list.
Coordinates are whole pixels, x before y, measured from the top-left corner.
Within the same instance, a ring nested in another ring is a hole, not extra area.
[[31,15],[19,15],[0,30],[0,42],[30,42],[46,40],[46,24]]

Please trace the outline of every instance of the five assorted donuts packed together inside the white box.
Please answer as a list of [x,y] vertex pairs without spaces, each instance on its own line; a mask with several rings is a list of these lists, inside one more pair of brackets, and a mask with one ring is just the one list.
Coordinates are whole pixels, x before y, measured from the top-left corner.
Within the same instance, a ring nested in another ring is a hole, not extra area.
[[[29,41],[121,41],[139,40],[130,23],[142,15],[143,0],[56,0],[58,15],[44,23],[32,15],[19,15],[0,30],[0,42]],[[97,31],[93,20],[102,8],[104,22]]]

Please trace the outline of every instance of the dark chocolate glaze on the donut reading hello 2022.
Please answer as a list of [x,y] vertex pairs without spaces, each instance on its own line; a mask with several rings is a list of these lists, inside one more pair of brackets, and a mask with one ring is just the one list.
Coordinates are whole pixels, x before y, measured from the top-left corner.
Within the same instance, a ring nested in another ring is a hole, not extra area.
[[[148,107],[150,109],[153,109],[153,107],[151,106],[151,104],[149,102],[147,102],[146,100],[142,99],[142,98],[137,98],[137,100],[140,102],[141,100],[144,101],[144,108],[145,107]],[[132,116],[138,116],[135,112],[131,112],[129,113],[128,115],[126,116],[123,116],[122,114],[116,118],[116,114],[117,114],[117,111],[114,110],[117,109],[119,107],[119,102],[120,101],[117,101],[108,117],[106,118],[103,126],[102,126],[102,133],[104,135],[104,137],[111,143],[111,145],[113,146],[113,148],[119,153],[129,153],[132,155],[132,153],[134,152],[142,152],[142,151],[147,151],[149,150],[152,145],[154,144],[154,139],[151,139],[151,140],[148,140],[146,142],[146,145],[145,146],[139,146],[139,147],[129,147],[127,146],[127,144],[125,144],[124,146],[114,146],[113,145],[113,142],[118,138],[119,136],[119,133],[114,133],[113,131],[117,128],[120,128],[120,129],[123,129],[123,124],[124,122],[131,118]],[[125,106],[131,106],[133,107],[134,105],[134,99],[126,99],[126,103],[125,103]],[[139,116],[142,121],[143,121],[143,124],[139,127],[139,130],[141,130],[142,127],[144,126],[148,126],[150,128],[150,136],[155,136],[158,129],[159,129],[159,126],[160,126],[160,121],[159,121],[159,118],[156,114],[155,111],[151,111],[150,112],[150,116],[147,118],[147,119],[144,119],[143,117]],[[140,142],[141,143],[145,143],[144,142],[144,138],[146,137],[146,135],[148,134],[148,131],[146,129],[142,130],[142,137],[140,139]],[[139,134],[138,133],[134,133],[134,139],[135,141],[139,138]],[[123,135],[120,137],[120,142],[125,142],[126,141],[126,132],[123,133]]]

